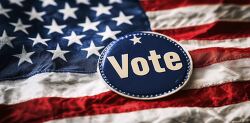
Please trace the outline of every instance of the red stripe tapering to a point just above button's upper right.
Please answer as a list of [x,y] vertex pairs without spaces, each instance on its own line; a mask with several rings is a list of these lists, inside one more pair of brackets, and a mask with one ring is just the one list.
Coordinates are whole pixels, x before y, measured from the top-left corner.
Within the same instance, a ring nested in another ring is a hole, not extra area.
[[201,26],[155,30],[177,40],[223,40],[250,36],[250,22],[214,22]]

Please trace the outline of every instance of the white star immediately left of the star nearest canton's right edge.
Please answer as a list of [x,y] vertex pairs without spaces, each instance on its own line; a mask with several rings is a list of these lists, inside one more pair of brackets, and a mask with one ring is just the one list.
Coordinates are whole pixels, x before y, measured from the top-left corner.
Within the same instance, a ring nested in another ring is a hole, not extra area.
[[94,30],[94,31],[98,31],[97,26],[100,24],[100,21],[96,21],[96,22],[91,22],[90,19],[88,17],[86,17],[85,19],[85,23],[81,23],[79,24],[79,26],[83,27],[83,31],[87,31],[87,30]]

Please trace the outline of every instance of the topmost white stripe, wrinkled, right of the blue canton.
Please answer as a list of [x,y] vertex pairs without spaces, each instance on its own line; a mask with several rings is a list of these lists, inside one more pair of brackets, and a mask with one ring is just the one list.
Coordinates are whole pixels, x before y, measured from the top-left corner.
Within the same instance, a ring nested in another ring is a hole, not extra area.
[[146,12],[153,30],[173,29],[223,21],[250,21],[250,5],[193,5]]

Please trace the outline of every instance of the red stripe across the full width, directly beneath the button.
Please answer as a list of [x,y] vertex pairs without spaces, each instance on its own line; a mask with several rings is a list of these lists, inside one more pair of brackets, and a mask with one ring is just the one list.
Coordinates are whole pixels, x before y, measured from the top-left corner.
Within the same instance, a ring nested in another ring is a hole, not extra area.
[[82,98],[39,98],[14,105],[0,105],[0,122],[43,122],[74,116],[122,113],[166,107],[218,107],[249,99],[250,81],[184,90],[153,101],[128,99],[113,92]]

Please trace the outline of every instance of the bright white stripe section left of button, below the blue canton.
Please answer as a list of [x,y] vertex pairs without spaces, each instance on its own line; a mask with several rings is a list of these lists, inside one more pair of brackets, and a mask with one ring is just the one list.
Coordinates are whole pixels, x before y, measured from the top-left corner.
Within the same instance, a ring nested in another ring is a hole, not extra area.
[[13,104],[40,97],[91,96],[106,91],[97,74],[41,73],[28,79],[0,82],[0,103]]

